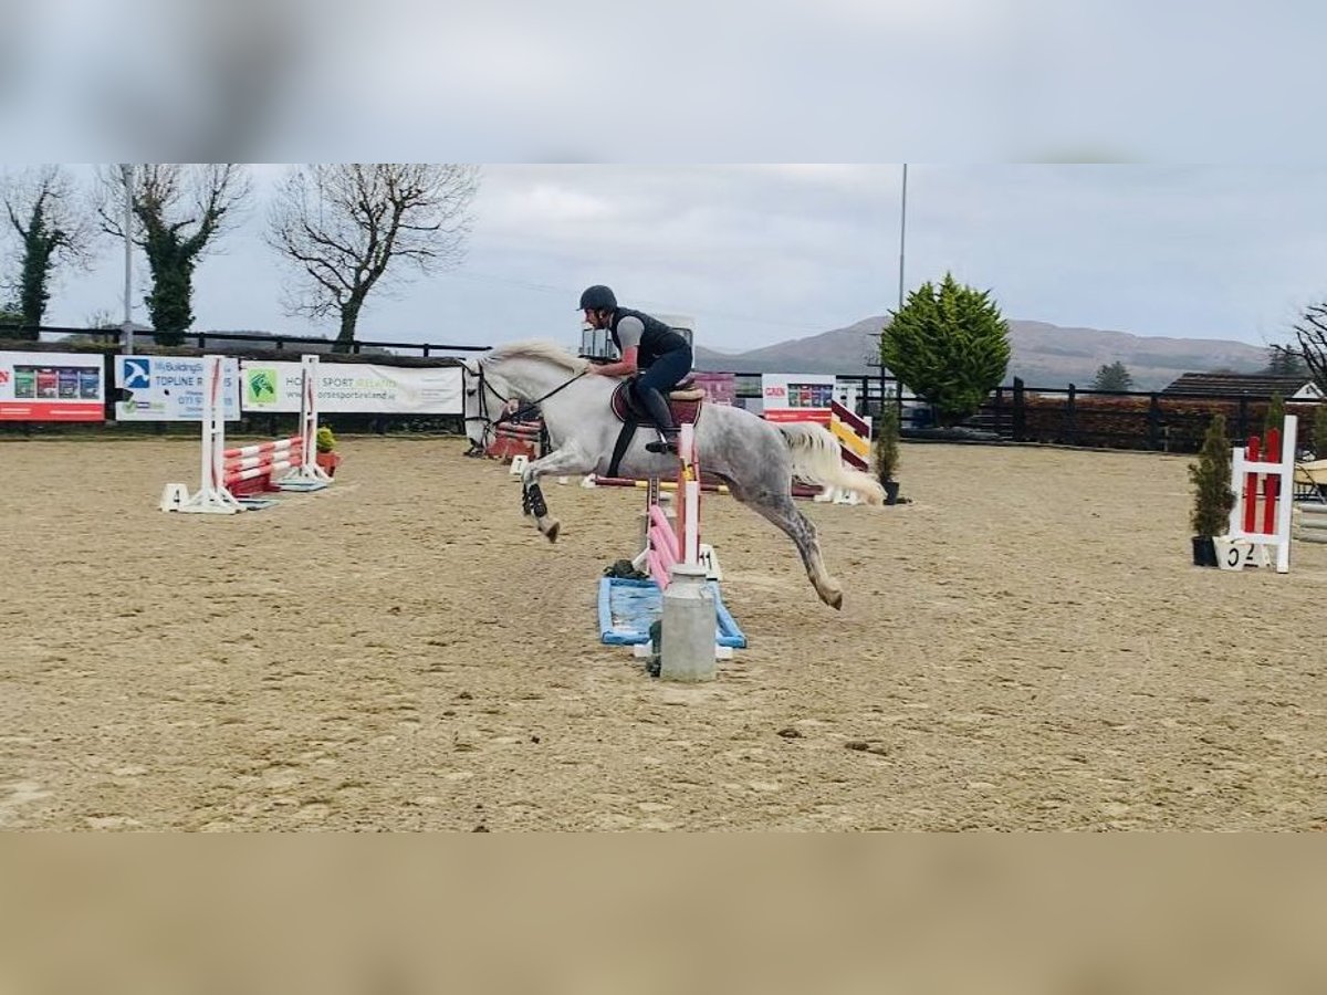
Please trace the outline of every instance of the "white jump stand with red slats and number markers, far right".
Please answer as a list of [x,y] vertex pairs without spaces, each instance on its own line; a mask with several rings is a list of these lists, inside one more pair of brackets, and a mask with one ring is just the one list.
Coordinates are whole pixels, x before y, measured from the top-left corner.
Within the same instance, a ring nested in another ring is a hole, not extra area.
[[1230,509],[1229,535],[1217,537],[1222,569],[1274,563],[1277,573],[1290,572],[1298,427],[1299,419],[1286,415],[1281,431],[1270,429],[1265,440],[1250,435],[1243,447],[1234,447],[1230,490],[1235,505]]

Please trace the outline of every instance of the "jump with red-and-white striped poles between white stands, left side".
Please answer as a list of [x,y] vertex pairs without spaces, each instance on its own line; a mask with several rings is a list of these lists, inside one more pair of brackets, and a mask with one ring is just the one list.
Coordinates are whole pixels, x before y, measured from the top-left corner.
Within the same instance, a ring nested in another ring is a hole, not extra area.
[[190,495],[184,484],[167,484],[162,511],[234,515],[267,507],[264,491],[318,491],[330,478],[316,462],[318,434],[318,357],[301,357],[300,431],[283,439],[226,448],[226,405],[222,397],[223,357],[203,357],[203,451],[200,484]]

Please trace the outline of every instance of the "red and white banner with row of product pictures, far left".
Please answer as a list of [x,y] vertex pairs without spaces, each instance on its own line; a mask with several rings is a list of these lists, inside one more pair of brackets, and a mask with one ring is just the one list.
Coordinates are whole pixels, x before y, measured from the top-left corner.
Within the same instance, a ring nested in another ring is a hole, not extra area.
[[88,353],[0,353],[0,421],[105,421],[102,364]]

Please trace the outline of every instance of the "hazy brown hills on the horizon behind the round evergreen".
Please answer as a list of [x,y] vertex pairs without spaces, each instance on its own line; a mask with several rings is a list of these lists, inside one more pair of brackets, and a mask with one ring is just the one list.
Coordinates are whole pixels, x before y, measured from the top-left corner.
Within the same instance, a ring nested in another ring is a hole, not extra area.
[[[886,322],[885,316],[873,316],[744,353],[699,345],[695,367],[729,373],[878,373],[869,364],[878,364],[877,341]],[[1217,338],[1161,338],[1044,321],[1010,321],[1009,338],[1013,357],[1005,382],[1022,377],[1030,387],[1089,387],[1096,371],[1113,362],[1128,367],[1135,390],[1160,390],[1181,373],[1253,373],[1267,365],[1266,348]]]

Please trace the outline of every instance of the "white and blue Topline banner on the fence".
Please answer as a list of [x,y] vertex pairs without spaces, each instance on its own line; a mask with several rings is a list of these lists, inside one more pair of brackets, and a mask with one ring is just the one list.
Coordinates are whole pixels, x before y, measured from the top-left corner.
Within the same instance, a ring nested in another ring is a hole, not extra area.
[[[203,418],[203,357],[117,356],[115,418],[122,422],[198,422]],[[222,361],[227,421],[240,417],[238,360]]]

